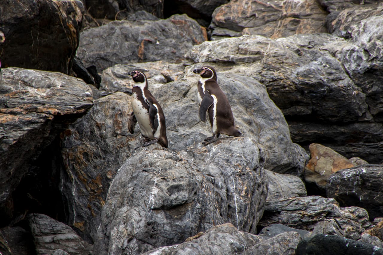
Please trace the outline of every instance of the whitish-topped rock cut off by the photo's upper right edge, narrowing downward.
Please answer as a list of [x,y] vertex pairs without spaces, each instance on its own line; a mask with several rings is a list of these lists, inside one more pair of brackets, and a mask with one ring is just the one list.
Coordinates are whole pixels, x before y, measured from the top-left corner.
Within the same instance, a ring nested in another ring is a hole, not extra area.
[[377,38],[380,38],[383,32],[377,27],[383,24],[382,11],[381,5],[370,5],[365,7],[365,13],[370,15],[364,15],[360,10],[357,13],[350,11],[345,14],[351,19],[358,17],[360,21],[356,23],[347,18],[342,20],[341,16],[342,26],[346,26],[341,33],[345,33],[347,29],[349,39],[343,43],[326,46],[326,49],[342,62],[352,80],[362,88],[370,113],[375,121],[379,122],[383,120],[383,100],[380,97],[383,90],[379,82],[383,70],[383,43]]

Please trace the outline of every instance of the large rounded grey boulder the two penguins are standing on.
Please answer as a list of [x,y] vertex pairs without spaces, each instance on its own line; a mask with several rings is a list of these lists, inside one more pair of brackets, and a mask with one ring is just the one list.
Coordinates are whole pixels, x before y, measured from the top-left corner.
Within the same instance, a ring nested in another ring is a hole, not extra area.
[[209,169],[157,144],[132,155],[109,188],[93,254],[140,254],[224,222],[254,233],[267,196],[259,148],[242,138],[212,147],[199,155],[221,160]]

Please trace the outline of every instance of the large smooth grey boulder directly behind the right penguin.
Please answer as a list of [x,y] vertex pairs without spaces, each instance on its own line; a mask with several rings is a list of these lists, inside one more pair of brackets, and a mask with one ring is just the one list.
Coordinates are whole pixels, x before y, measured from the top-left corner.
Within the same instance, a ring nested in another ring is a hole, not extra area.
[[[200,65],[198,65],[200,66]],[[191,74],[190,66],[185,74]],[[198,117],[197,79],[187,77],[187,85],[177,92],[177,97],[169,98],[169,87],[180,87],[180,83],[167,83],[156,91],[156,98],[164,102],[167,128],[170,130],[168,138],[172,148],[181,150],[211,136],[211,126],[202,123]],[[262,144],[265,153],[265,168],[278,173],[287,173],[300,176],[308,159],[304,150],[293,144],[285,119],[280,110],[267,95],[265,87],[254,78],[236,74],[221,74],[218,70],[218,83],[228,96],[236,126],[245,137],[255,137]],[[175,88],[172,90],[176,90]],[[241,93],[243,92],[243,93]],[[161,95],[167,95],[169,100],[162,100]],[[180,100],[179,100],[180,99]],[[283,153],[282,153],[283,152]]]

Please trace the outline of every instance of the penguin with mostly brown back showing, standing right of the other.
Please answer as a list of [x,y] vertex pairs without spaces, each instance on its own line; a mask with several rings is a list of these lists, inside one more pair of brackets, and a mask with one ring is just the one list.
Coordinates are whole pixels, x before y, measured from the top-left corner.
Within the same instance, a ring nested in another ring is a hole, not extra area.
[[200,119],[203,122],[206,121],[207,111],[213,132],[213,136],[206,138],[202,144],[208,145],[217,141],[219,134],[241,136],[241,132],[234,126],[233,113],[228,98],[218,86],[214,68],[205,66],[194,69],[193,73],[201,75],[197,84],[198,98],[200,99]]

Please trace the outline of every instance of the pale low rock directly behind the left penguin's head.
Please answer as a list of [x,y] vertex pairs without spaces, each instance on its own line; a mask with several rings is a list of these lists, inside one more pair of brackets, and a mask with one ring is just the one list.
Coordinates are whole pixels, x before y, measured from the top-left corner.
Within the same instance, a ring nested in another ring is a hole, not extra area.
[[[133,70],[145,73],[149,90],[153,93],[158,87],[168,82],[163,72],[169,72],[173,81],[177,81],[183,77],[183,69],[183,64],[170,64],[164,61],[113,65],[103,70],[101,74],[100,93],[102,96],[114,92],[131,93],[134,81],[128,72]],[[171,93],[169,94],[172,96]],[[163,106],[162,103],[161,106]]]

